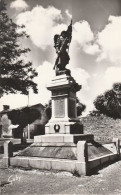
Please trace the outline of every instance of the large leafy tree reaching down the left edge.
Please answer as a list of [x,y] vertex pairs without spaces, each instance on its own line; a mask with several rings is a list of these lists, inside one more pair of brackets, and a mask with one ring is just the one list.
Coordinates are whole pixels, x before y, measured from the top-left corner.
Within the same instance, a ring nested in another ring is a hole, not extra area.
[[32,79],[37,72],[31,62],[25,62],[23,55],[30,49],[22,48],[19,42],[28,35],[24,26],[15,24],[7,15],[5,3],[0,1],[0,95],[28,94],[32,88],[37,93],[37,84]]

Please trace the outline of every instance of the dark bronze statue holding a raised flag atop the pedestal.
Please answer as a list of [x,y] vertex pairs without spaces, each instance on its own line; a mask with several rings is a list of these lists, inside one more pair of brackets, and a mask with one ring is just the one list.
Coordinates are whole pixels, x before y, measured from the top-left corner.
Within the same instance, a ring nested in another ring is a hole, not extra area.
[[56,75],[64,74],[67,70],[65,67],[69,63],[70,57],[68,55],[69,45],[72,38],[72,21],[68,26],[67,31],[62,31],[60,35],[54,36],[54,47],[56,49],[57,58],[54,69]]

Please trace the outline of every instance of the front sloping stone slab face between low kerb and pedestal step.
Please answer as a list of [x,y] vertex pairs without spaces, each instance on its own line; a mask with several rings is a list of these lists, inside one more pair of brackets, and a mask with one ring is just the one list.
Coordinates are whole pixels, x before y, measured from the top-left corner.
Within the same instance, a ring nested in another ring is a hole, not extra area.
[[38,145],[38,143],[32,144],[32,146],[21,151],[18,156],[31,156],[40,158],[54,158],[54,159],[66,159],[66,160],[77,160],[77,146],[76,145],[49,145],[44,143]]

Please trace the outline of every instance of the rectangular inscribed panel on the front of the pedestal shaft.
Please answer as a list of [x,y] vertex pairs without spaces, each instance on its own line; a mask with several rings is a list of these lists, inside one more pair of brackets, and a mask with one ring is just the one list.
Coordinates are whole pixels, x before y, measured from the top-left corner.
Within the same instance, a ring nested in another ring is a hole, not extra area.
[[55,117],[64,117],[65,116],[65,101],[64,99],[56,99],[54,101],[55,108]]

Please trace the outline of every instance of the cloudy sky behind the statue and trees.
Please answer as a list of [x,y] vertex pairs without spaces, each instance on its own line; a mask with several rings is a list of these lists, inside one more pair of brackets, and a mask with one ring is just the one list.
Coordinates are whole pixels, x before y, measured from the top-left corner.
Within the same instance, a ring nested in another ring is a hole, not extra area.
[[[82,85],[78,98],[86,105],[84,115],[94,109],[95,98],[121,82],[121,1],[120,0],[5,0],[9,16],[17,24],[24,24],[30,35],[22,40],[22,47],[31,52],[38,72],[35,82],[39,93],[30,90],[29,105],[45,104],[51,97],[46,89],[54,77],[56,52],[53,37],[66,30],[72,17],[73,31],[70,44],[70,62],[67,68]],[[25,56],[24,56],[25,58]],[[4,95],[2,105],[10,108],[26,106],[25,95]]]

